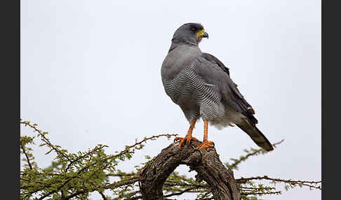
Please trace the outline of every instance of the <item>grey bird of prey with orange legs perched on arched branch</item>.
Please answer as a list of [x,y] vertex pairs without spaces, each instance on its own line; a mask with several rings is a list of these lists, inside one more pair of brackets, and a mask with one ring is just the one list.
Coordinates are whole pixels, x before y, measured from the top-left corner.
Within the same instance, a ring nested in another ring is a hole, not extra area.
[[198,141],[192,137],[192,132],[201,118],[203,141],[196,149],[214,146],[213,141],[208,141],[209,123],[219,130],[236,125],[260,148],[274,150],[256,127],[255,110],[230,78],[229,68],[213,55],[201,52],[199,43],[203,38],[208,38],[208,33],[202,24],[182,24],[175,30],[161,66],[163,88],[168,97],[180,106],[189,122],[185,137],[175,138],[175,141],[180,141],[178,148]]

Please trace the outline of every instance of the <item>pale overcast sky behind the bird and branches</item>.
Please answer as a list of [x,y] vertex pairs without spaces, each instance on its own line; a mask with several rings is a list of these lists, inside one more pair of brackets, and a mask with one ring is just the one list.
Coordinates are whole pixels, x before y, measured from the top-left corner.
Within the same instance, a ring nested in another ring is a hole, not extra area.
[[[135,138],[185,136],[189,124],[164,92],[160,70],[175,29],[200,22],[210,36],[201,50],[229,67],[269,141],[286,140],[241,163],[235,178],[321,180],[321,1],[22,0],[20,17],[20,117],[49,131],[53,143],[72,152],[102,143],[113,153]],[[194,136],[202,139],[202,121]],[[209,127],[208,139],[222,162],[258,148],[238,127]],[[151,141],[119,167],[130,171],[170,143]],[[36,159],[51,163],[44,152]],[[321,191],[263,199],[315,200]]]

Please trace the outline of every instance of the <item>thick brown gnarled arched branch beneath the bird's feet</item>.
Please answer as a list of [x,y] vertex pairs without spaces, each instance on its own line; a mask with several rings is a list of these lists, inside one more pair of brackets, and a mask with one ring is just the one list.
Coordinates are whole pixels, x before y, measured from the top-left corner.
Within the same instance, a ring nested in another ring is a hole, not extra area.
[[140,173],[140,190],[144,200],[165,199],[162,187],[170,173],[180,164],[186,164],[196,171],[196,181],[206,181],[216,200],[240,200],[241,194],[234,180],[232,170],[227,169],[219,159],[215,148],[196,150],[201,141],[191,141],[181,149],[172,143],[154,157]]

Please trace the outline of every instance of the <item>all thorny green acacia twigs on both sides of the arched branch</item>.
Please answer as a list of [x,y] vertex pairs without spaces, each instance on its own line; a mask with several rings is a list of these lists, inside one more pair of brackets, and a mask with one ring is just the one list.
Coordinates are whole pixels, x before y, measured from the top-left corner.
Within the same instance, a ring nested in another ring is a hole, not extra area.
[[[118,163],[116,159],[120,159],[121,161],[126,158],[129,159],[135,150],[143,148],[144,143],[149,140],[155,140],[161,136],[170,138],[170,136],[177,135],[161,134],[145,137],[141,141],[135,141],[133,145],[126,145],[124,150],[116,152],[114,155],[105,155],[103,149],[107,147],[106,145],[97,145],[92,150],[88,150],[88,152],[82,152],[80,155],[75,155],[67,152],[67,150],[62,150],[58,145],[53,145],[46,137],[47,132],[36,128],[37,124],[31,124],[28,121],[22,120],[20,120],[20,124],[34,129],[34,132],[38,133],[41,140],[44,142],[44,145],[48,145],[48,147],[56,152],[59,157],[67,160],[67,162],[62,163],[65,167],[60,170],[58,170],[58,166],[55,166],[55,171],[39,169],[35,162],[33,167],[30,160],[32,155],[27,152],[27,150],[30,149],[26,149],[25,143],[22,143],[24,141],[20,141],[22,154],[25,155],[27,160],[26,168],[20,171],[20,196],[22,195],[25,199],[29,199],[32,197],[32,194],[37,192],[41,192],[41,196],[36,199],[45,199],[46,197],[51,197],[51,195],[58,194],[58,192],[61,192],[62,194],[60,199],[72,199],[73,197],[83,199],[88,196],[89,192],[95,191],[99,192],[102,199],[107,199],[103,193],[105,190],[112,190],[116,196],[119,196],[118,198],[142,199],[142,196],[136,196],[140,193],[140,190],[138,190],[136,185],[136,183],[140,180],[138,173],[125,173],[115,169],[114,166]],[[282,142],[283,140],[278,143],[274,143],[273,145],[276,146]],[[235,169],[239,163],[245,161],[248,157],[263,153],[261,149],[251,150],[251,152],[246,151],[248,154],[241,157],[241,159],[232,159],[234,160],[234,163],[229,166],[232,169]],[[93,179],[93,177],[97,176],[99,178]],[[111,176],[119,177],[121,180],[112,181],[110,183],[109,177]],[[57,182],[53,182],[54,180]],[[77,182],[74,180],[81,181]],[[96,182],[99,180],[100,182]],[[255,176],[236,179],[236,183],[239,183],[240,185],[241,194],[263,195],[281,193],[280,191],[272,191],[275,190],[274,187],[255,185],[251,185],[252,187],[246,187],[246,185],[250,184],[250,181],[252,180],[270,180],[272,183],[286,183],[290,186],[300,185],[301,187],[306,186],[310,189],[321,190],[321,181],[283,180],[280,178],[269,178],[268,176]],[[78,186],[77,184],[81,185]],[[168,177],[163,185],[163,191],[166,192],[165,197],[179,196],[184,193],[193,192],[200,194],[197,199],[213,199],[207,183],[197,183],[193,178],[179,176],[176,172],[173,172]]]

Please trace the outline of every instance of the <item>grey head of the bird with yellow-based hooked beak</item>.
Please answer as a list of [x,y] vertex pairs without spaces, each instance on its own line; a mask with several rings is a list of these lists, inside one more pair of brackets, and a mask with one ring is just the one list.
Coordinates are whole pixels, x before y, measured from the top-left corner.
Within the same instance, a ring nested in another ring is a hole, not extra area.
[[208,34],[203,29],[203,26],[198,23],[187,23],[175,31],[172,42],[198,45],[202,38],[208,38]]

